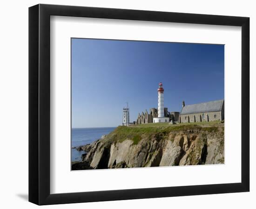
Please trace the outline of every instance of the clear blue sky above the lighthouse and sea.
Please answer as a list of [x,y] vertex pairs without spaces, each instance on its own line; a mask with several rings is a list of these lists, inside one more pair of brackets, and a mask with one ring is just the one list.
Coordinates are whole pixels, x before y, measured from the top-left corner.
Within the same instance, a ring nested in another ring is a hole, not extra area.
[[114,127],[145,109],[224,98],[224,45],[72,39],[72,127]]

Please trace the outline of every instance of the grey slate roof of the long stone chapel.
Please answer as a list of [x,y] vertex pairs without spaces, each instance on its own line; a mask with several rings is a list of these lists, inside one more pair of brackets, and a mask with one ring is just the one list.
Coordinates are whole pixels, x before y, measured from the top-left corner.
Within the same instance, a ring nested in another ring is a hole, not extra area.
[[204,102],[200,104],[189,104],[182,108],[180,115],[193,114],[200,112],[215,112],[221,111],[224,100],[216,100],[210,102]]

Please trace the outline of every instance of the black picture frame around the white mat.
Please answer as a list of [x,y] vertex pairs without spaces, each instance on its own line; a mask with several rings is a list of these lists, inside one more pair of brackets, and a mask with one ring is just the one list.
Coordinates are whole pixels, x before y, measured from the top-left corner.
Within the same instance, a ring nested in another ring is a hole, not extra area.
[[[242,181],[50,194],[50,16],[242,26]],[[249,191],[249,18],[39,4],[29,8],[29,202],[38,205]]]

